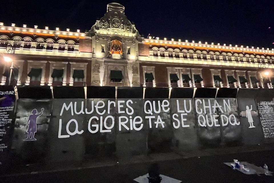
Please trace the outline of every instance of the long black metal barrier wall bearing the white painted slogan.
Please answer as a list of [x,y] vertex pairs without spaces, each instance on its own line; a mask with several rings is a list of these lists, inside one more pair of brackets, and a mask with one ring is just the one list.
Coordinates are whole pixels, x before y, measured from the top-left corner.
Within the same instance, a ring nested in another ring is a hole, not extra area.
[[[273,126],[263,124],[269,116],[262,113],[265,108],[267,115],[274,113],[273,99],[259,100],[257,89],[217,92],[216,88],[198,88],[193,97],[193,88],[154,87],[146,88],[142,99],[142,87],[118,87],[117,100],[115,87],[87,87],[87,99],[84,88],[78,90],[79,98],[63,98],[60,87],[53,92],[60,98],[18,100],[12,142],[17,162],[126,159],[147,153],[260,144],[263,137],[264,142],[273,142]],[[72,93],[76,96],[77,92]],[[262,124],[269,127],[264,134]]]

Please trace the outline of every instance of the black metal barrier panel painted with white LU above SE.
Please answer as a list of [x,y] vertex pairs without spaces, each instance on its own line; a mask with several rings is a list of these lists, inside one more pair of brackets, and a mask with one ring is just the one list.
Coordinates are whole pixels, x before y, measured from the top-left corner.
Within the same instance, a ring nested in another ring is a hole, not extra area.
[[193,88],[171,90],[172,140],[174,151],[178,153],[199,148],[193,94]]

